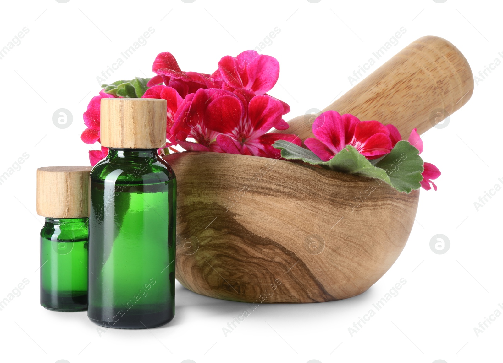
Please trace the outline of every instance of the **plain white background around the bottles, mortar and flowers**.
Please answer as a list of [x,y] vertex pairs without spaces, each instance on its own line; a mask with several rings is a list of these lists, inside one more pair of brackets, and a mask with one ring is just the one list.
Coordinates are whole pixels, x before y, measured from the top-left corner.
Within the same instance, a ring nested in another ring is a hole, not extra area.
[[[474,327],[494,310],[503,313],[501,207],[503,192],[477,211],[474,202],[495,184],[501,167],[501,82],[498,65],[442,129],[423,135],[425,160],[442,176],[438,192],[423,191],[405,249],[368,292],[319,304],[262,304],[238,328],[222,328],[249,309],[207,298],[177,283],[176,316],[150,330],[109,329],[101,336],[86,312],[58,313],[39,305],[39,240],[35,170],[88,165],[80,141],[82,113],[100,87],[96,79],[149,27],[155,32],[109,81],[151,76],[157,53],[170,51],[181,68],[211,73],[224,55],[253,49],[275,27],[281,32],[262,53],[281,64],[270,92],[288,102],[292,118],[322,109],[351,88],[348,76],[399,30],[406,33],[372,67],[424,35],[456,45],[477,74],[503,60],[500,3],[455,1],[253,2],[181,0],[2,2],[0,48],[23,29],[21,44],[0,59],[2,157],[0,173],[28,153],[22,168],[0,185],[2,253],[0,300],[24,278],[22,294],[0,311],[2,361],[201,362],[502,361],[503,316],[477,337]],[[166,15],[167,14],[167,15]],[[368,74],[368,73],[367,73]],[[55,127],[68,109],[73,122]],[[93,145],[91,148],[98,148]],[[444,254],[430,239],[446,235]],[[354,336],[348,328],[400,279],[407,281]]]

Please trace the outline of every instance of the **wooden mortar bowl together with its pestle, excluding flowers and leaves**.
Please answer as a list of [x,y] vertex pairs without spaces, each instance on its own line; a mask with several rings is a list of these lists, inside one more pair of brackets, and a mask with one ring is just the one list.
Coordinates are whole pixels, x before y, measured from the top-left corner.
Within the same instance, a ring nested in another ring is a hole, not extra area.
[[[391,123],[408,137],[458,110],[472,92],[464,56],[428,36],[323,111]],[[313,121],[299,116],[284,132],[304,140]],[[213,152],[165,159],[178,179],[176,277],[219,299],[311,303],[365,292],[398,258],[419,198],[419,191],[286,160]]]

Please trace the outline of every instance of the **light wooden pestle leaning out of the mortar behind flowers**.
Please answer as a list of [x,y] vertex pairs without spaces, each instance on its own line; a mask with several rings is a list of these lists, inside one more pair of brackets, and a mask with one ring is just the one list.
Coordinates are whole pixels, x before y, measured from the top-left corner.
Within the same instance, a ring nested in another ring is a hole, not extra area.
[[[360,120],[393,124],[407,138],[424,133],[470,99],[473,75],[466,58],[449,41],[426,36],[410,43],[344,96],[326,107]],[[317,115],[316,115],[317,116]],[[314,115],[292,119],[287,130],[302,140],[312,137]]]

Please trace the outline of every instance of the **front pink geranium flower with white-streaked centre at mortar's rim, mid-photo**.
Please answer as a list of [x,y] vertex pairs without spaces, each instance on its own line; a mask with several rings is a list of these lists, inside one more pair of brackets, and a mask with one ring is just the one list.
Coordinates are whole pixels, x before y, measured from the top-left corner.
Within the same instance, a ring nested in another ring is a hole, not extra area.
[[280,151],[272,146],[275,141],[287,140],[301,145],[296,135],[267,133],[272,128],[288,128],[282,115],[280,101],[267,95],[255,96],[242,89],[211,102],[205,122],[208,129],[220,133],[216,142],[223,152],[279,158]]

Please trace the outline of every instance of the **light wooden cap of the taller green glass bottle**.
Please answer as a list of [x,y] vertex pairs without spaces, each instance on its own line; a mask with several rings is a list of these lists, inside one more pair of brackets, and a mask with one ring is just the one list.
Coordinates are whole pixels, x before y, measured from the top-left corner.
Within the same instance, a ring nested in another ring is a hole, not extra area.
[[101,144],[157,149],[166,144],[166,100],[101,99]]

